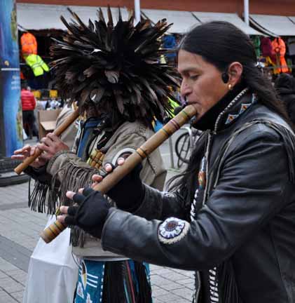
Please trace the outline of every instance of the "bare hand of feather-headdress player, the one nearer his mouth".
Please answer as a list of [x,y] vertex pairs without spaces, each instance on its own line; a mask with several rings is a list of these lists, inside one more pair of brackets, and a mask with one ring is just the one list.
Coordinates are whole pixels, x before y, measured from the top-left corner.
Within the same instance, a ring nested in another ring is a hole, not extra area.
[[46,161],[49,161],[57,152],[69,150],[67,144],[64,144],[54,133],[48,133],[46,137],[43,137],[37,147],[45,152],[43,159],[46,159]]

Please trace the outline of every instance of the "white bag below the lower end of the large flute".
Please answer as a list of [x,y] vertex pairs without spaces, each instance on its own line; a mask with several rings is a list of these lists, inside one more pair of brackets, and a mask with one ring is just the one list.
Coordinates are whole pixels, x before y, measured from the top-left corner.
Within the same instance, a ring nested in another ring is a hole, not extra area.
[[[50,217],[46,227],[55,221]],[[27,284],[22,303],[72,303],[78,266],[71,255],[70,229],[52,242],[41,238],[29,260]]]

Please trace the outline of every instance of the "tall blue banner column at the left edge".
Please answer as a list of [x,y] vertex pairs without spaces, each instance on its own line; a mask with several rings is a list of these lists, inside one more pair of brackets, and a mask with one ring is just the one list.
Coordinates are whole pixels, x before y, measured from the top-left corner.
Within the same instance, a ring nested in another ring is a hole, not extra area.
[[0,156],[22,147],[20,62],[15,0],[0,1]]

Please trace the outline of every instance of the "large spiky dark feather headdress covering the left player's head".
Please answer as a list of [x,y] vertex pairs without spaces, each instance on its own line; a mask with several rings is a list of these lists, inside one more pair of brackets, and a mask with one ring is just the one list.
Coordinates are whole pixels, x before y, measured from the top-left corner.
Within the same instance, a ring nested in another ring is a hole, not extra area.
[[142,20],[133,25],[134,16],[114,25],[111,9],[104,20],[102,9],[98,20],[85,25],[76,13],[67,22],[62,41],[51,47],[57,88],[69,103],[78,102],[81,111],[95,105],[102,113],[119,119],[140,119],[147,126],[155,119],[163,121],[170,110],[167,97],[170,88],[179,86],[177,70],[160,63],[160,37],[169,29],[165,19],[156,25]]

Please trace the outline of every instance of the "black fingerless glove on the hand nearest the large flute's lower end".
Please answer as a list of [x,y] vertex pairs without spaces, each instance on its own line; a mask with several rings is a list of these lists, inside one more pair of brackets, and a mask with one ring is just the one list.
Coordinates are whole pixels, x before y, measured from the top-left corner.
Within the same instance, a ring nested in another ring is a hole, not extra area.
[[83,190],[83,194],[75,194],[73,201],[78,206],[70,206],[64,222],[67,225],[77,225],[95,238],[102,237],[102,228],[109,213],[109,202],[100,193],[90,187]]

